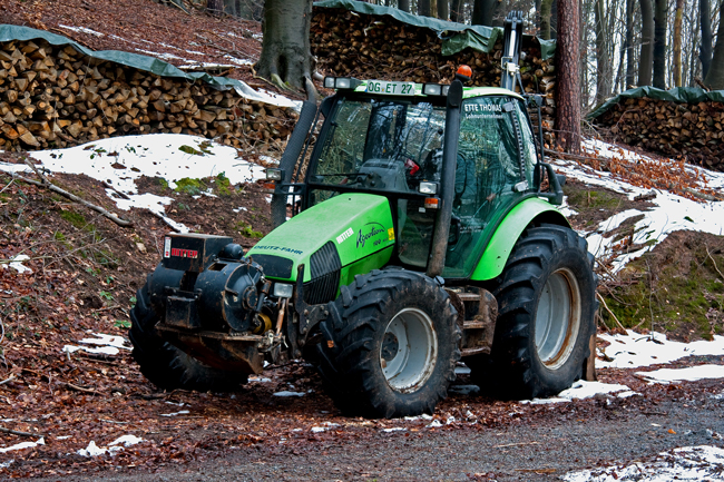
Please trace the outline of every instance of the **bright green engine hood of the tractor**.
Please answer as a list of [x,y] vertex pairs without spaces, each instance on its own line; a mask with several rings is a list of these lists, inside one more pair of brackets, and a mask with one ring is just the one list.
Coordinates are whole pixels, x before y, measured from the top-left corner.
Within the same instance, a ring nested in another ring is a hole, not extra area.
[[370,194],[339,194],[278,226],[247,256],[272,255],[291,260],[290,277],[267,275],[282,281],[296,281],[297,267],[304,264],[306,283],[311,279],[310,257],[329,242],[336,248],[342,267],[394,246],[388,199]]

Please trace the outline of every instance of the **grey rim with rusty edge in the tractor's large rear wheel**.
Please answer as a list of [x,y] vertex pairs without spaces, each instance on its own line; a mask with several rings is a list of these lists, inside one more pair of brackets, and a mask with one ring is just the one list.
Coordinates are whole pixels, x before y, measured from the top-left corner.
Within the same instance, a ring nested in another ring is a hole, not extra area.
[[536,312],[536,350],[550,370],[570,357],[580,328],[580,289],[570,269],[548,277]]

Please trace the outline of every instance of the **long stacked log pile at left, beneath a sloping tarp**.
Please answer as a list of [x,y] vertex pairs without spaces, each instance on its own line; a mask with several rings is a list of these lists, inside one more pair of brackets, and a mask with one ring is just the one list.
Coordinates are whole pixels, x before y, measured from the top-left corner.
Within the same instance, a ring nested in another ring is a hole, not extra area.
[[286,139],[296,112],[186,79],[90,59],[45,41],[0,43],[0,149],[110,136],[192,134],[247,148]]

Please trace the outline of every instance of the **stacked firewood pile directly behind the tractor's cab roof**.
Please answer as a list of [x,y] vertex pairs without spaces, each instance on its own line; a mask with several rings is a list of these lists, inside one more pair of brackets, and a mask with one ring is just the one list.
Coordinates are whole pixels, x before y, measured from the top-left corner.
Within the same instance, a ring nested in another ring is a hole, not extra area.
[[[500,87],[501,39],[490,53],[467,48],[454,56],[443,57],[442,40],[432,30],[391,17],[360,14],[344,9],[315,9],[311,45],[317,69],[327,76],[449,83],[458,67],[467,63],[473,72],[470,85]],[[546,140],[550,141],[555,129],[554,59],[540,58],[537,40],[527,39],[522,52],[522,83],[526,92],[545,96],[544,130]]]

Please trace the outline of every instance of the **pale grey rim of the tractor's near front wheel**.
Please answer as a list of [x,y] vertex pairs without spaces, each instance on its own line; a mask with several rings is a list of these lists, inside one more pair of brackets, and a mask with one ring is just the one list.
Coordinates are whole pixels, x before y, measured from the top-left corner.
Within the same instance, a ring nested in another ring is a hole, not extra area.
[[438,336],[430,316],[418,308],[398,313],[384,329],[380,348],[382,373],[392,390],[414,392],[436,364]]

